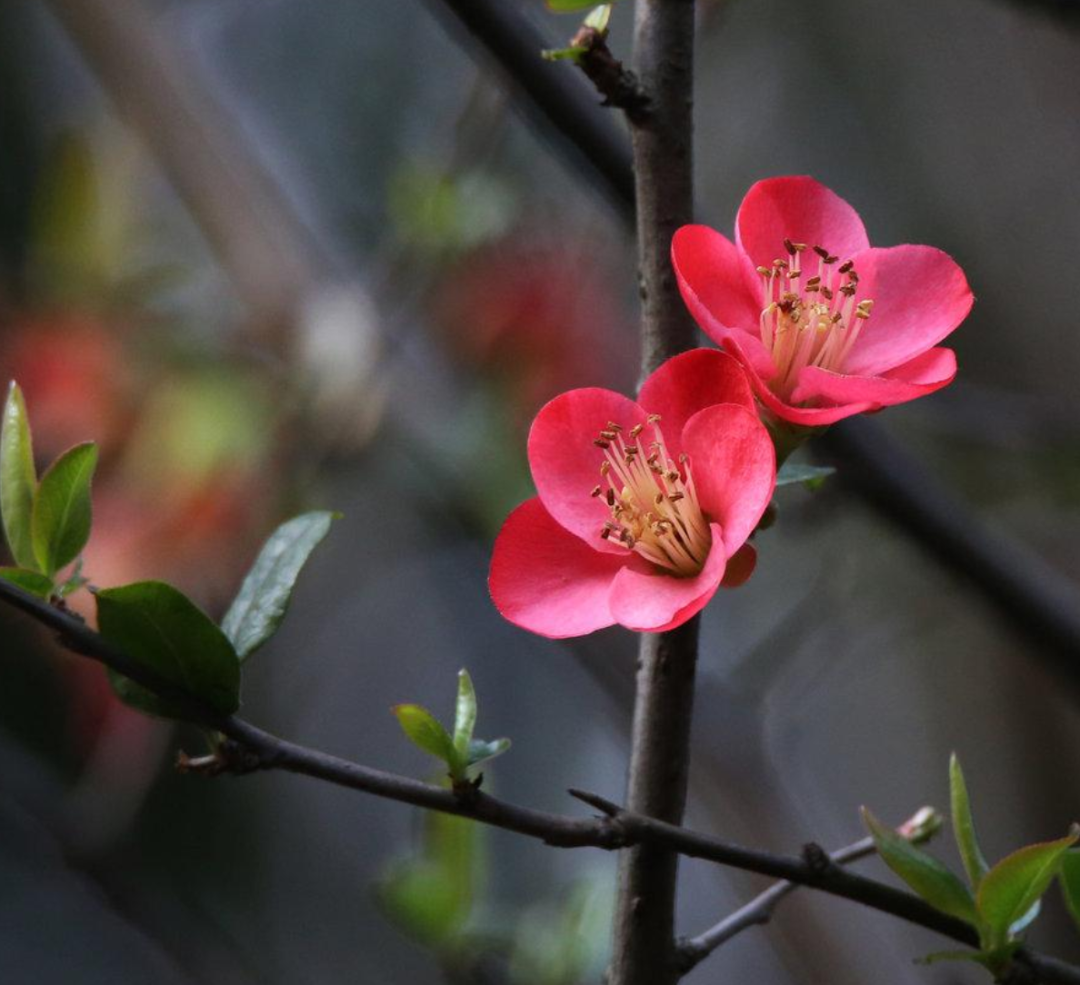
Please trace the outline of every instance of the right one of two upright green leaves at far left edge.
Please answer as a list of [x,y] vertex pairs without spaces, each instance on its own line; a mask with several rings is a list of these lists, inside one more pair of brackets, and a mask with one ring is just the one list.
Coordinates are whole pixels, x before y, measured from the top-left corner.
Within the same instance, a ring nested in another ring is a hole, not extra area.
[[90,483],[97,445],[86,442],[54,461],[33,497],[30,530],[38,566],[52,577],[70,564],[90,540]]

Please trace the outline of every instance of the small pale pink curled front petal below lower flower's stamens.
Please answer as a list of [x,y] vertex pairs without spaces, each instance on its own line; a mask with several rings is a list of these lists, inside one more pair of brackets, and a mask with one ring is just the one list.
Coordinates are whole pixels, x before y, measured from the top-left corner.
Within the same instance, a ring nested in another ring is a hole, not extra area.
[[700,612],[716,594],[726,558],[720,528],[710,524],[713,548],[693,578],[675,578],[652,565],[627,565],[611,583],[610,606],[616,622],[642,633],[662,633]]

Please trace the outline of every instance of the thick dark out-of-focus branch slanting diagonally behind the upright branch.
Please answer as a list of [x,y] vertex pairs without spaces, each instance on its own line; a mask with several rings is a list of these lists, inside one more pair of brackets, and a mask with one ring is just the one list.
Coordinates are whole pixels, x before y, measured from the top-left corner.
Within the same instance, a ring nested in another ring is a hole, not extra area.
[[[632,224],[627,140],[611,114],[596,105],[583,78],[566,66],[562,66],[564,78],[535,69],[534,63],[540,60],[536,53],[550,48],[550,39],[540,36],[503,0],[429,2],[449,10],[470,28],[487,18],[498,19],[498,32],[475,29],[476,40],[510,75],[513,90],[541,127],[575,145],[572,162],[580,161],[581,154],[589,160],[590,176],[602,177],[622,219]],[[1065,0],[1045,2],[1066,5]],[[523,52],[531,54],[523,57]],[[595,151],[597,147],[602,152]],[[981,522],[970,507],[873,421],[845,421],[818,437],[815,444],[841,467],[841,476],[856,495],[972,585],[995,612],[1036,644],[1034,652],[1049,663],[1058,679],[1080,693],[1080,601],[1072,584],[1030,550]],[[897,467],[897,457],[905,460],[903,468]]]

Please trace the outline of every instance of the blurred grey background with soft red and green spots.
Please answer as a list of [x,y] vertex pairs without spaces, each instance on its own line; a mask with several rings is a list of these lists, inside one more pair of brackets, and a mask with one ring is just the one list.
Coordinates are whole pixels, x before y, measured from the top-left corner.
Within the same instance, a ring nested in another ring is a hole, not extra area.
[[[503,2],[555,46],[578,23]],[[878,421],[1075,598],[1074,8],[699,10],[702,219],[730,234],[753,181],[809,173],[876,244],[958,259],[960,378]],[[275,523],[339,509],[246,717],[427,778],[389,707],[449,717],[468,666],[480,733],[514,742],[485,783],[573,811],[568,786],[622,794],[635,640],[532,637],[485,588],[535,411],[637,373],[624,216],[564,151],[441,0],[0,0],[0,377],[42,460],[102,445],[92,581],[166,579],[220,616]],[[688,822],[839,847],[861,804],[946,807],[951,750],[988,855],[1080,819],[1069,661],[842,482],[778,501],[754,579],[705,613]],[[5,982],[599,981],[613,856],[297,777],[177,775],[198,733],[8,609],[0,632]],[[684,863],[681,932],[764,885]],[[1080,960],[1056,898],[1032,941]],[[942,944],[801,893],[687,981],[982,981],[912,963]]]

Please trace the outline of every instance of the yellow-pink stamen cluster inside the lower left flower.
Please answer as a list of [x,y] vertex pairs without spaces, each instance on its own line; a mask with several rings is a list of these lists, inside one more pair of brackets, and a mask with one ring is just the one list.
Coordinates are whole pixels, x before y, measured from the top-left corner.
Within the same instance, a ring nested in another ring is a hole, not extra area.
[[[647,427],[652,429],[653,441],[645,454],[640,435]],[[678,464],[672,460],[660,415],[650,414],[647,423],[625,432],[621,424],[608,421],[593,444],[604,451],[604,461],[600,484],[592,495],[603,497],[611,513],[599,536],[678,577],[701,571],[712,534],[698,503],[690,459],[680,455]]]

